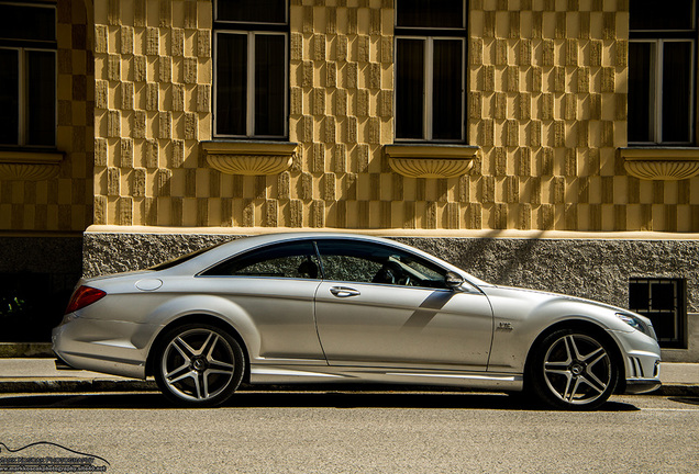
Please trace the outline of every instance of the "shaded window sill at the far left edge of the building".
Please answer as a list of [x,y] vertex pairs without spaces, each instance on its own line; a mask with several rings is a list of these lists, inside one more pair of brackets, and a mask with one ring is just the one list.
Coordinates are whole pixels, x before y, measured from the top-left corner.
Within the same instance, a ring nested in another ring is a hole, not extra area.
[[0,180],[44,181],[58,176],[60,151],[0,151]]

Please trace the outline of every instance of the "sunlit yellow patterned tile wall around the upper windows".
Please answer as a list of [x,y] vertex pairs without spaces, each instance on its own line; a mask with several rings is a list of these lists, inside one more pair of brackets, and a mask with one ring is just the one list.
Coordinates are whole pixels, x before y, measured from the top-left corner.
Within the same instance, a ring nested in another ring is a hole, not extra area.
[[[212,2],[96,0],[95,223],[699,230],[696,179],[629,177],[629,0],[471,0],[469,174],[413,179],[393,127],[393,0],[290,2],[289,140],[276,176],[222,174]],[[695,185],[696,188],[696,185]]]

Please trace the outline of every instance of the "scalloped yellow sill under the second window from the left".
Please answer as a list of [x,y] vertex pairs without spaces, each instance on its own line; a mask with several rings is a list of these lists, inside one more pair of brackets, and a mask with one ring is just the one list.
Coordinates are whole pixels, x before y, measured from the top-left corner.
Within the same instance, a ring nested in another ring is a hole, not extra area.
[[299,146],[291,142],[202,142],[207,162],[226,174],[278,174],[291,167]]

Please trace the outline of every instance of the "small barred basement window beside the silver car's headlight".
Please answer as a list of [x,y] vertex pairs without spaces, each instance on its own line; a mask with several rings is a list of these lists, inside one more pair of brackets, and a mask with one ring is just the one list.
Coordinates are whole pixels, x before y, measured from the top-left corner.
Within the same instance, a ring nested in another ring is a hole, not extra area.
[[646,316],[661,347],[687,348],[685,280],[630,279],[629,308]]

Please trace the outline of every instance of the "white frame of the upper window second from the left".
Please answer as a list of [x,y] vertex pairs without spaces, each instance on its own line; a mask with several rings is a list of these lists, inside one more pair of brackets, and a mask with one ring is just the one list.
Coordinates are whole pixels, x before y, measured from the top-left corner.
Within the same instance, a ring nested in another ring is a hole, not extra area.
[[[218,30],[214,32],[214,52],[218,52],[219,35],[222,34],[238,34],[247,36],[247,93],[246,93],[246,109],[245,109],[245,135],[232,135],[232,134],[218,134],[217,131],[217,113],[219,110],[219,92],[218,81],[213,82],[213,135],[217,138],[257,138],[257,139],[277,139],[286,138],[289,136],[289,35],[286,32],[276,31],[246,31],[246,30]],[[284,134],[282,135],[257,135],[255,134],[255,36],[256,35],[278,35],[284,36]],[[217,59],[213,61],[213,77],[218,77],[218,54]]]

